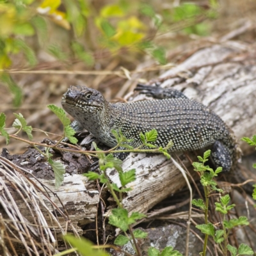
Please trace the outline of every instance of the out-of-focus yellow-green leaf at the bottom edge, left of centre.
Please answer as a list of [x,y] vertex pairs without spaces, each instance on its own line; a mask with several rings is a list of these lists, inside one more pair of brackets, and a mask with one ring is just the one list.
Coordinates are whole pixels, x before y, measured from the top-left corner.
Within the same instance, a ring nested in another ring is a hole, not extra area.
[[84,237],[74,237],[72,235],[64,236],[64,239],[68,241],[77,251],[83,256],[109,256],[108,253],[102,250],[93,249],[93,243]]

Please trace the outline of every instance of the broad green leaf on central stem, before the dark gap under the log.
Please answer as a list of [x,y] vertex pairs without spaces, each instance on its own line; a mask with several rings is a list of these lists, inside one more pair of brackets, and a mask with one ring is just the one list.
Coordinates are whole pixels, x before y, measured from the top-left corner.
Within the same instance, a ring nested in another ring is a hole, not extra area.
[[111,212],[112,214],[109,216],[109,224],[126,232],[129,228],[128,211],[126,209],[113,209]]

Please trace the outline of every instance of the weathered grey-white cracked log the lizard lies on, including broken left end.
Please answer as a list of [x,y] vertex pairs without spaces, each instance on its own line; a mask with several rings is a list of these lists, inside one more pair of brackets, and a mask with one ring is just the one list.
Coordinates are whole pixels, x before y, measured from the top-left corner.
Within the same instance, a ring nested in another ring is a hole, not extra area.
[[[250,56],[250,51],[252,49],[248,49],[244,44],[226,42],[223,45],[212,45],[212,47],[195,52],[179,66],[164,72],[159,79],[163,81],[162,86],[173,86],[173,88],[182,90],[189,98],[209,106],[227,122],[238,139],[243,136],[250,137],[256,134],[256,61],[246,61],[246,56]],[[134,95],[133,99],[136,100],[138,97]],[[253,150],[246,143],[241,143],[241,148],[244,153]],[[175,158],[174,154],[173,157]],[[182,164],[191,170],[191,163],[187,157],[182,153],[179,153],[179,157]],[[193,152],[189,153],[189,157],[195,160]],[[34,158],[38,159],[36,156]],[[65,160],[68,161],[68,158]],[[75,163],[73,159],[74,166]],[[124,170],[135,168],[137,176],[136,181],[129,184],[132,191],[127,193],[123,201],[129,212],[147,212],[157,202],[186,185],[184,177],[172,161],[166,160],[166,157],[160,154],[130,154],[125,159],[123,168]],[[113,182],[118,182],[115,172],[109,171],[109,177]],[[4,175],[1,176],[3,183],[9,186],[9,180],[4,178]],[[41,182],[58,194],[62,204],[65,205],[69,220],[72,221],[79,234],[83,232],[81,225],[95,221],[99,193],[92,188],[86,178],[77,174],[69,175],[65,177],[65,182],[58,191],[54,189],[52,180],[41,180]],[[38,182],[36,184],[41,186]],[[16,198],[16,205],[20,207],[24,218],[28,221],[32,220],[29,211],[26,211],[26,204],[17,198],[11,185],[10,191]],[[52,193],[49,195],[62,211],[63,207],[58,198]],[[38,196],[51,209],[52,203],[43,194],[39,193]],[[0,209],[0,213],[5,214],[3,208]],[[44,215],[48,225],[51,226],[51,218],[48,218],[47,212],[44,212]],[[58,220],[61,226],[65,227],[67,220],[62,216],[58,216]]]

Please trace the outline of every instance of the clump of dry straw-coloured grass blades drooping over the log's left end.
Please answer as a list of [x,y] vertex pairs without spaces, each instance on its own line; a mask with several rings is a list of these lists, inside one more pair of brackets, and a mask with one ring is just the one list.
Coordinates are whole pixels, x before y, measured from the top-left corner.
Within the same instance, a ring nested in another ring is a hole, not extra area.
[[[56,207],[51,201],[51,207],[47,206],[41,191],[29,182],[24,173],[18,172],[3,159],[0,159],[0,190],[3,212],[0,219],[0,253],[39,255],[38,250],[44,255],[57,253],[58,237],[54,230],[59,230],[62,235],[65,230],[52,213]],[[45,216],[51,218],[52,227],[49,227]]]

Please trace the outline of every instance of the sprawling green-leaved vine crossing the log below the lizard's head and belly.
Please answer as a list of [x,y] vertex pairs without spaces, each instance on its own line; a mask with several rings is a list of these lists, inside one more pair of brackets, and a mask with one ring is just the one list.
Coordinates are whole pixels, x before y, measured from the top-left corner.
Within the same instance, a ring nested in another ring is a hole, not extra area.
[[[14,138],[15,140],[22,140],[28,143],[29,145],[33,146],[42,154],[45,159],[47,159],[48,163],[52,166],[52,170],[55,175],[55,186],[56,188],[59,188],[63,182],[64,174],[65,174],[65,167],[62,163],[53,161],[52,160],[52,154],[51,149],[55,150],[66,150],[68,152],[79,152],[81,154],[88,154],[90,156],[95,156],[99,158],[99,168],[100,173],[97,172],[88,172],[84,174],[88,179],[90,180],[96,180],[98,179],[101,183],[106,184],[106,186],[109,189],[109,192],[115,199],[116,205],[118,208],[112,209],[111,215],[109,216],[109,224],[120,228],[122,232],[124,232],[125,236],[120,234],[116,237],[114,244],[116,246],[122,246],[127,243],[131,243],[134,246],[134,251],[136,252],[136,255],[141,255],[140,248],[138,248],[138,245],[136,243],[136,239],[143,239],[147,237],[147,233],[143,232],[141,230],[132,230],[131,225],[135,223],[137,220],[141,220],[141,218],[145,218],[145,214],[141,214],[140,212],[132,212],[129,216],[128,211],[123,207],[122,205],[122,196],[124,193],[127,193],[131,190],[131,188],[126,188],[127,184],[134,181],[136,179],[136,171],[134,169],[129,170],[128,172],[123,172],[121,164],[122,161],[116,157],[113,156],[112,153],[120,153],[120,152],[157,152],[162,153],[164,156],[170,158],[170,155],[168,154],[168,149],[172,147],[172,141],[166,145],[166,147],[159,147],[157,148],[156,145],[153,143],[157,140],[157,131],[153,129],[152,131],[145,132],[145,134],[141,133],[141,145],[137,148],[132,148],[129,143],[131,140],[127,140],[125,136],[122,134],[121,131],[112,131],[113,135],[116,138],[117,145],[116,147],[111,148],[107,151],[100,150],[97,145],[93,142],[93,145],[95,147],[96,151],[88,151],[88,150],[80,150],[79,148],[77,150],[69,149],[69,148],[60,148],[58,145],[61,143],[63,138],[68,138],[72,143],[76,144],[77,139],[74,137],[75,131],[70,127],[70,120],[65,114],[65,111],[63,109],[58,108],[55,105],[49,105],[48,106],[51,111],[58,116],[61,123],[63,124],[63,136],[61,136],[60,140],[56,142],[54,145],[44,145],[42,143],[35,143],[31,141],[33,139],[32,131],[33,128],[31,126],[27,125],[26,120],[21,114],[14,113],[16,119],[13,122],[13,128],[17,129],[15,134],[9,135],[8,132],[6,132],[6,116],[4,113],[0,114],[0,135],[4,136],[6,139],[6,144],[9,143],[10,138]],[[24,140],[22,138],[19,138],[18,134],[20,131],[26,132],[28,135],[29,140]],[[47,133],[45,133],[47,134]],[[38,146],[45,146],[45,150],[40,150]],[[122,150],[119,150],[118,148],[122,148]],[[108,175],[106,173],[106,170],[108,168],[115,168],[118,172],[120,183],[122,185],[122,188],[118,188],[117,184],[113,184],[110,182]],[[129,232],[129,234],[128,234]],[[77,237],[67,236],[65,237],[67,241],[76,247],[76,250],[79,251],[82,255],[99,255],[104,256],[107,255],[104,252],[95,251],[94,248],[108,248],[108,247],[115,247],[115,246],[96,246],[93,247],[90,241],[81,240]],[[84,251],[83,248],[86,248]],[[66,252],[71,252],[72,249],[67,250]],[[74,251],[74,250],[73,250]],[[73,252],[72,251],[72,252]],[[98,253],[98,254],[90,254],[92,253]],[[61,254],[63,255],[63,254]],[[150,248],[148,251],[148,255],[181,255],[177,251],[173,251],[173,248],[168,246],[164,248],[163,252],[159,252],[156,248]]]

